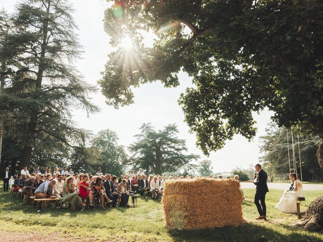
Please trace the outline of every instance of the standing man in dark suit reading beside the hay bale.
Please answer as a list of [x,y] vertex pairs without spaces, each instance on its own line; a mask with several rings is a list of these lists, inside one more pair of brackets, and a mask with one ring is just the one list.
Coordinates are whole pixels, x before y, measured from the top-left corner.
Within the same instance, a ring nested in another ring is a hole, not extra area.
[[[260,164],[255,165],[255,170],[258,172],[257,180],[249,180],[256,185],[256,194],[254,195],[254,203],[258,209],[259,217],[256,219],[266,219],[266,203],[265,196],[268,191],[267,187],[267,173],[261,168]],[[260,204],[259,204],[260,200]]]

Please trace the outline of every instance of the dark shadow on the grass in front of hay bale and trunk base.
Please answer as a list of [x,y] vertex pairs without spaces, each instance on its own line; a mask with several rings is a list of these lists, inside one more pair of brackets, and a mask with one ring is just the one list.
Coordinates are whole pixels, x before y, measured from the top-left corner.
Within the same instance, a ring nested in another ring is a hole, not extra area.
[[[192,221],[194,222],[194,221]],[[169,235],[175,241],[240,241],[240,242],[315,242],[322,241],[318,234],[305,234],[302,230],[286,228],[275,230],[268,227],[245,223],[240,227],[224,227],[202,230],[169,230]]]

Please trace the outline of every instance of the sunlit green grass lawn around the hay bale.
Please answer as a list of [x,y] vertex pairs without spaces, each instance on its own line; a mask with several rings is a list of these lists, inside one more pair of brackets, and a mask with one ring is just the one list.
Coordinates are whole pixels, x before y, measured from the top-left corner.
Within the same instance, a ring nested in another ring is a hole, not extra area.
[[[159,201],[138,199],[136,208],[100,208],[84,211],[48,208],[37,213],[33,206],[11,198],[0,186],[0,234],[2,231],[29,231],[48,235],[69,234],[75,237],[94,237],[97,241],[323,241],[323,233],[292,229],[297,221],[293,214],[284,214],[275,208],[283,191],[271,190],[266,196],[267,221],[256,221],[253,189],[245,189],[243,215],[246,223],[240,227],[225,227],[196,231],[166,229],[163,208]],[[305,211],[321,191],[305,191]],[[212,209],[212,208],[208,208]],[[193,223],[194,221],[192,221]],[[1,238],[0,238],[1,241]],[[79,240],[77,240],[79,241]]]

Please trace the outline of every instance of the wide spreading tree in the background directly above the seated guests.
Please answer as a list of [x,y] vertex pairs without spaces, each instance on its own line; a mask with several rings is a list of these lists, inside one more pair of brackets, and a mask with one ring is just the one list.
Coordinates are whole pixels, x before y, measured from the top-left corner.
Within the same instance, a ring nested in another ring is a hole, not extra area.
[[155,174],[172,172],[184,164],[198,158],[197,155],[185,154],[186,141],[179,139],[175,124],[167,125],[164,130],[155,131],[150,124],[143,124],[141,133],[136,135],[137,141],[129,146],[132,153],[130,163],[135,168],[152,170]]

